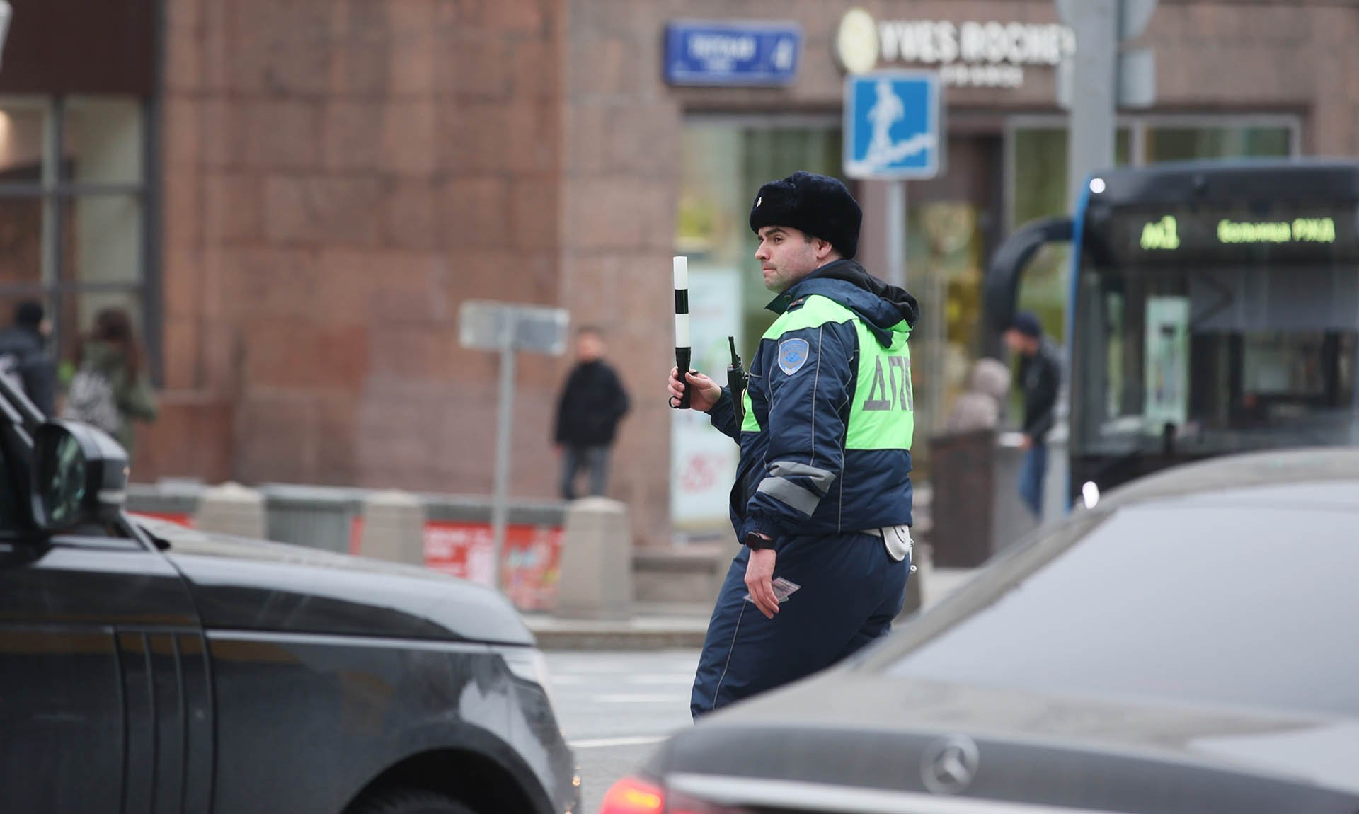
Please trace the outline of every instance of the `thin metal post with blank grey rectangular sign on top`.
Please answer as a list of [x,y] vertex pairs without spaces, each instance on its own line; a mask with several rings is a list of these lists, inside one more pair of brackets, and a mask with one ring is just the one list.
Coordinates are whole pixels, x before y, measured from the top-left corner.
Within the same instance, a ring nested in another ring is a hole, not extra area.
[[514,427],[515,352],[561,356],[567,349],[568,323],[569,317],[564,308],[467,300],[458,311],[458,340],[463,348],[500,352],[495,493],[491,499],[491,529],[495,535],[491,584],[496,590],[500,590],[500,559],[504,556],[506,515],[510,500],[510,435]]

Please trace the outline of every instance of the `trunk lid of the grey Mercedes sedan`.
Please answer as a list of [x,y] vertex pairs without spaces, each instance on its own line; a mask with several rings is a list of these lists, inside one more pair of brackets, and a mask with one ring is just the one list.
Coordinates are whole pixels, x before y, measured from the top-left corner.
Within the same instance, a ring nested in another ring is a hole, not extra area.
[[1359,810],[1359,722],[1049,697],[836,669],[671,738],[652,776],[928,794],[932,749],[977,746],[965,796],[1112,811]]

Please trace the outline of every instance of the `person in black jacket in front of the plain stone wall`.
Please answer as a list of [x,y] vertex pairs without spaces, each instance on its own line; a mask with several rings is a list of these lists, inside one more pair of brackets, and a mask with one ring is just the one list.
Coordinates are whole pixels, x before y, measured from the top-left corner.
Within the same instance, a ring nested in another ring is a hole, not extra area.
[[576,499],[576,474],[590,470],[590,493],[601,496],[609,480],[609,448],[618,421],[628,412],[628,391],[603,360],[603,334],[586,326],[576,332],[576,366],[557,401],[553,435],[561,461],[561,497]]

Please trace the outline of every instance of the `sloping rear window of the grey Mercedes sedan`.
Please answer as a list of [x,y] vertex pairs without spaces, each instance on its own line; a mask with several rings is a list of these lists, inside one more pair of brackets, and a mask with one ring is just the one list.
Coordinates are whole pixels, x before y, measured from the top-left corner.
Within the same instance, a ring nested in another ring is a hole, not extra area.
[[1123,508],[889,673],[1038,693],[1359,713],[1359,515]]

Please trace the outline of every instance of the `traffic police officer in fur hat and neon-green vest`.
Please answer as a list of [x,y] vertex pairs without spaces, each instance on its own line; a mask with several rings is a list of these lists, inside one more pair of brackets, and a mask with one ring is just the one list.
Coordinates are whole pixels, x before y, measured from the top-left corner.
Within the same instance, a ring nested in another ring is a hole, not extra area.
[[[741,444],[731,522],[745,544],[708,625],[694,719],[833,665],[901,612],[919,307],[853,261],[862,217],[826,175],[760,188],[750,228],[779,318],[752,360],[739,427],[731,391],[686,374],[693,409]],[[780,603],[783,580],[798,588]]]

